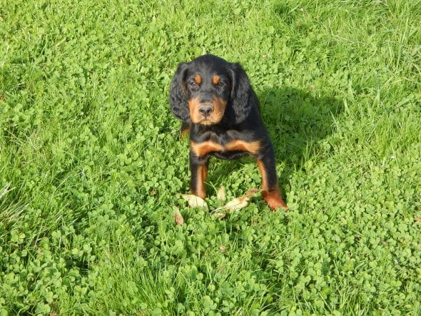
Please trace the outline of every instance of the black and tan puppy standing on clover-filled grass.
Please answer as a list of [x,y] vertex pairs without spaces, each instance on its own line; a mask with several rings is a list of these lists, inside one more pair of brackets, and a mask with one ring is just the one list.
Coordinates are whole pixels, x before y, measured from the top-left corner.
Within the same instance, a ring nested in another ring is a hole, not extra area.
[[280,196],[273,146],[258,98],[238,63],[213,55],[180,63],[171,81],[170,105],[183,122],[183,135],[190,133],[191,193],[206,198],[211,156],[234,159],[248,154],[258,163],[263,199],[273,210],[288,210]]

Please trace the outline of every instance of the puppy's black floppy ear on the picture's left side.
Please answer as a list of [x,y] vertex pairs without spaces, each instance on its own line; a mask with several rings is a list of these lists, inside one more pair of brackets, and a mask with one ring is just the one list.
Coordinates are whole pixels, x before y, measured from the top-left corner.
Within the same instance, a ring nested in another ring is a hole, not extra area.
[[178,64],[177,71],[173,76],[170,86],[170,106],[171,112],[176,117],[180,118],[183,122],[189,123],[191,121],[190,112],[188,110],[186,86],[184,86],[187,67],[188,63]]

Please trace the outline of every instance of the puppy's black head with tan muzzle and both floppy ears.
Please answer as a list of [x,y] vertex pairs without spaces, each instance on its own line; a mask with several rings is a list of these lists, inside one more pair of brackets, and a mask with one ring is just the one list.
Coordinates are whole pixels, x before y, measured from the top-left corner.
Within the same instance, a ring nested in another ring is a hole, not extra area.
[[243,68],[213,55],[180,63],[171,81],[171,111],[188,123],[241,123],[248,116],[254,97]]

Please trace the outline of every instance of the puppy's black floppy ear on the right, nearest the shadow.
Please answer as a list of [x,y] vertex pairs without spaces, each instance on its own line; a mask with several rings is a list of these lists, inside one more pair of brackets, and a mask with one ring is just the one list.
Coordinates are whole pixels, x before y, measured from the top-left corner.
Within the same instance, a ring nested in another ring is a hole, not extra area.
[[239,63],[231,63],[228,68],[231,77],[230,103],[235,115],[235,123],[241,123],[247,118],[248,113],[257,102],[257,97],[248,80],[247,73]]

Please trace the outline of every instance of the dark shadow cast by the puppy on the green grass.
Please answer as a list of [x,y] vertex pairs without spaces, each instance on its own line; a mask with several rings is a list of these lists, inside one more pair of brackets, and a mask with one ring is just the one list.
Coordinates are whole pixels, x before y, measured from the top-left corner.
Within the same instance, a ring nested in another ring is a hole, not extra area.
[[[278,168],[278,178],[285,197],[291,175],[296,170],[303,170],[305,162],[318,153],[323,139],[333,132],[333,118],[343,111],[343,103],[330,96],[315,96],[317,91],[290,87],[268,88],[257,94],[263,121],[275,148],[277,165],[283,165],[281,172]],[[218,163],[210,172],[210,182],[220,183],[220,178],[245,161],[253,159]]]

